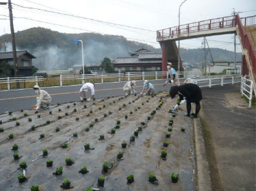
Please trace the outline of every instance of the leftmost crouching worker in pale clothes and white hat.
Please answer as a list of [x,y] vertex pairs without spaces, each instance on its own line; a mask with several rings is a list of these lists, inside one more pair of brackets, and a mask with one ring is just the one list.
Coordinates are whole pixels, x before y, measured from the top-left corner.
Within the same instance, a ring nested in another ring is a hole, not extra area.
[[52,101],[51,95],[48,94],[45,90],[40,90],[40,86],[35,85],[34,86],[34,91],[36,94],[38,94],[38,97],[36,97],[36,106],[33,107],[34,110],[42,109],[42,108],[47,108],[49,104]]

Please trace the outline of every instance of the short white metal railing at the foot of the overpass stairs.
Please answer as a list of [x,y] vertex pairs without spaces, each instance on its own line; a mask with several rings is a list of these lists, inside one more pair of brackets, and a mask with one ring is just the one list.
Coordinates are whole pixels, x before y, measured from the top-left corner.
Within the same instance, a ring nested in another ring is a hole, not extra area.
[[253,81],[247,79],[248,75],[241,77],[241,94],[249,99],[249,107],[251,107],[251,100],[253,97]]

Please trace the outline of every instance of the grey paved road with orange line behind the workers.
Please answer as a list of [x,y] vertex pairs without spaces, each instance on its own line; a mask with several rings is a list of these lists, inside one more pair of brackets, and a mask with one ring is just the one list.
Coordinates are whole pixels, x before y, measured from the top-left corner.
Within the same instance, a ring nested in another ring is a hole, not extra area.
[[[197,79],[208,78],[209,76],[198,77]],[[216,76],[218,77],[218,76]],[[185,79],[180,79],[181,84]],[[163,86],[165,83],[165,79],[152,80],[150,81],[156,88],[156,91],[160,90],[169,90],[170,84],[167,86]],[[225,83],[230,83],[231,79],[224,80]],[[95,95],[97,99],[102,97],[106,97],[108,95],[112,96],[120,96],[124,95],[122,92],[122,87],[125,82],[120,83],[99,83],[95,84]],[[206,86],[209,82],[198,82],[199,86]],[[212,81],[212,85],[220,84],[220,80]],[[80,97],[78,95],[78,91],[80,90],[81,85],[74,86],[55,86],[42,88],[51,94],[52,104],[57,103],[68,103],[71,101],[79,101]],[[143,88],[143,81],[137,81],[135,90],[137,92],[141,92]],[[24,89],[24,90],[8,90],[0,92],[0,113],[8,112],[10,110],[21,110],[31,108],[32,105],[36,104],[37,95],[34,93],[32,89]]]

